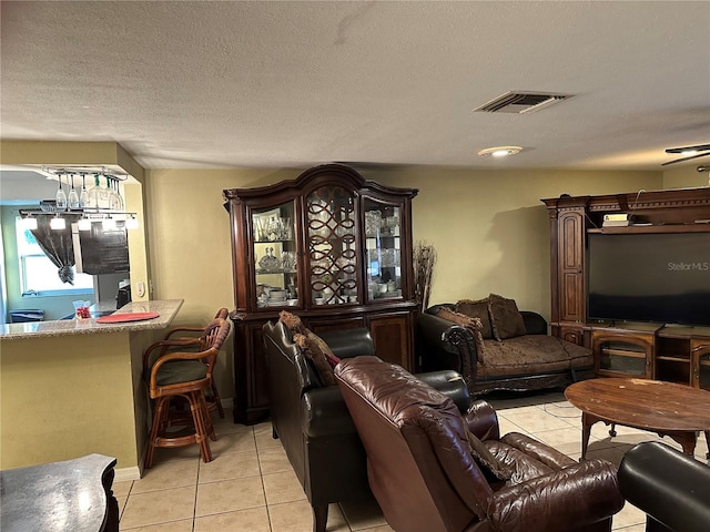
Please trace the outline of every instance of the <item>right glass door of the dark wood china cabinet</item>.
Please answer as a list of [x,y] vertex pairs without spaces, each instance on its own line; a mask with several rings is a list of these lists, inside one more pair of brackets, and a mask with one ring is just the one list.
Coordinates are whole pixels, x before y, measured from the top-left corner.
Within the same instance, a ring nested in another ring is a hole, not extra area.
[[399,207],[365,201],[368,300],[402,298]]

